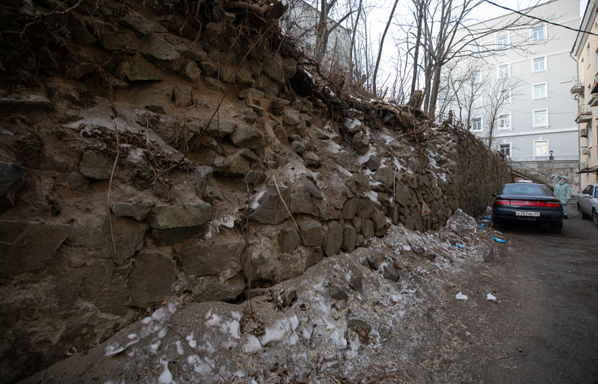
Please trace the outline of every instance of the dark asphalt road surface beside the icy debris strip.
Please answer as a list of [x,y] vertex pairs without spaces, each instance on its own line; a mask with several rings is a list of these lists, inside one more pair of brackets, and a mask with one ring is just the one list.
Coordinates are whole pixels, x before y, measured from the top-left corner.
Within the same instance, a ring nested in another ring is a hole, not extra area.
[[501,230],[498,254],[444,282],[413,319],[426,383],[598,383],[598,228],[575,200],[569,218]]

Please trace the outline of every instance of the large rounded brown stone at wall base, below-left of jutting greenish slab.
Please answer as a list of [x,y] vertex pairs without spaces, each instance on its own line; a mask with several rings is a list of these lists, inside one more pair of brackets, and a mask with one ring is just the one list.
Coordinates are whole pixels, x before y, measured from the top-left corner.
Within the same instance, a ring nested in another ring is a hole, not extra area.
[[176,263],[164,252],[146,249],[139,252],[129,278],[131,305],[148,308],[163,303],[173,293]]

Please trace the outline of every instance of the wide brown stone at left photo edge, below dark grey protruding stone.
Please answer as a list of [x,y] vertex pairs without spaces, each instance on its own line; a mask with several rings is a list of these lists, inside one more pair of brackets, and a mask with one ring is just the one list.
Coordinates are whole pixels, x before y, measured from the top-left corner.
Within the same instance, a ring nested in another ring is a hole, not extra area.
[[0,221],[0,277],[45,266],[69,233],[68,224]]

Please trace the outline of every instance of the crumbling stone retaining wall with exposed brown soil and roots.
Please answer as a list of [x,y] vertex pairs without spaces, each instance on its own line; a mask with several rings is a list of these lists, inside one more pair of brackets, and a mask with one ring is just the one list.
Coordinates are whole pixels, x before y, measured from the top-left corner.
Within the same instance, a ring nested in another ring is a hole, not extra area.
[[310,72],[278,1],[0,7],[9,381],[173,300],[245,300],[479,214],[507,177],[469,133]]

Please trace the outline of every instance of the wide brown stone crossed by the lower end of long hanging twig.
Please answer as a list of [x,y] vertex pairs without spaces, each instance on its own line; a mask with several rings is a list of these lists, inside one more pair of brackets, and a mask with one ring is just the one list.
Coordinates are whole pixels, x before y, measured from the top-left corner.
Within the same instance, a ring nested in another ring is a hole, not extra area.
[[[78,220],[73,224],[72,232],[65,242],[72,246],[84,246],[94,252],[96,257],[111,258],[118,265],[123,264],[140,251],[144,245],[146,223],[138,223],[127,218],[112,217],[112,232],[107,214],[96,214]],[[114,245],[112,236],[114,235]]]

